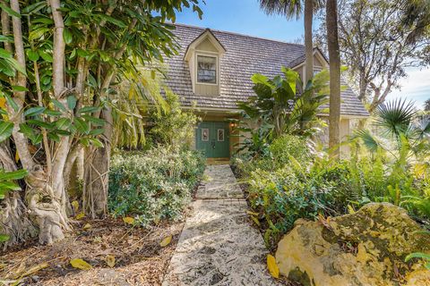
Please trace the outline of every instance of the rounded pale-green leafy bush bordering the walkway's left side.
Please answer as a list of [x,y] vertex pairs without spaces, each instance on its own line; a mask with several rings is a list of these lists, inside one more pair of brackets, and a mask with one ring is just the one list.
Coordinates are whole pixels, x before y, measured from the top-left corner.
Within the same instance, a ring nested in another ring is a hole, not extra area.
[[114,215],[136,215],[142,226],[176,220],[201,179],[204,158],[197,151],[158,147],[113,156],[108,207]]

